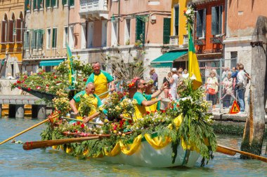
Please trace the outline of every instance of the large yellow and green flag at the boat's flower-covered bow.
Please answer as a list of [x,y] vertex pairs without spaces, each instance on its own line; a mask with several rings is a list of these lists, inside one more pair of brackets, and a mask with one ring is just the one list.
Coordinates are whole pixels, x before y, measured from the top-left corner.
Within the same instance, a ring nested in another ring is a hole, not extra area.
[[197,55],[195,55],[195,46],[191,34],[190,24],[188,24],[188,72],[191,79],[193,79],[193,89],[196,90],[202,85],[200,74],[200,66],[197,62]]

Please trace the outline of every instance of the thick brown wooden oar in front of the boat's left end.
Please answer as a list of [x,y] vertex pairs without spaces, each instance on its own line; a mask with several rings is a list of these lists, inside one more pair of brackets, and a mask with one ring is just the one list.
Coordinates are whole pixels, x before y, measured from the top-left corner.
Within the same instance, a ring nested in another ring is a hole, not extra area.
[[[73,138],[73,139],[55,139],[55,140],[47,140],[47,141],[30,141],[23,144],[24,150],[32,150],[37,148],[46,148],[50,146],[58,146],[61,144],[67,143],[77,143],[81,141],[88,141],[91,139],[99,139],[101,136],[89,136],[82,138]],[[104,136],[103,136],[104,137]]]

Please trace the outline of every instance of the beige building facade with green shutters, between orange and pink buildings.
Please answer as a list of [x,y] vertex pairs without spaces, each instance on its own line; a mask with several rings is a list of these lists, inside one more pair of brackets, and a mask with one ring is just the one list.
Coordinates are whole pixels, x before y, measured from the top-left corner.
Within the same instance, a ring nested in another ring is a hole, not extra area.
[[51,71],[66,57],[74,1],[26,0],[23,72]]

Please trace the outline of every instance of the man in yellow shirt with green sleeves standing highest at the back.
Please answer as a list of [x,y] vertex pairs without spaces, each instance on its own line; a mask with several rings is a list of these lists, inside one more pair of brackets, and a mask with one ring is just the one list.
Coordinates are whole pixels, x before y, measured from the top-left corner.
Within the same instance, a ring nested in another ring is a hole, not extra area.
[[[108,91],[108,83],[111,83],[112,86],[110,91],[114,91],[115,85],[112,76],[110,76],[110,74],[106,71],[100,70],[100,64],[98,62],[93,63],[92,66],[93,73],[91,73],[91,75],[87,79],[86,85],[88,83],[94,83],[96,85],[95,94],[97,95]],[[108,93],[100,96],[100,99],[105,99],[106,97],[108,97]]]

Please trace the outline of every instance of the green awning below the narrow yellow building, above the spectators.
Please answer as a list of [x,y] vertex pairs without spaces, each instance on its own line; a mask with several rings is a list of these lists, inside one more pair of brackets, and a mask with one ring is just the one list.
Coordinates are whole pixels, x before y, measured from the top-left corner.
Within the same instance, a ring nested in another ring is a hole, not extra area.
[[179,57],[182,57],[183,55],[186,55],[187,53],[188,53],[187,50],[186,51],[176,50],[176,51],[166,52],[162,56],[154,59],[151,62],[151,66],[156,67],[156,68],[166,68],[166,67],[171,68],[175,59],[178,59]]

